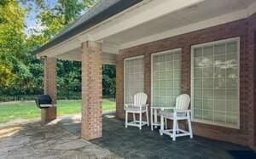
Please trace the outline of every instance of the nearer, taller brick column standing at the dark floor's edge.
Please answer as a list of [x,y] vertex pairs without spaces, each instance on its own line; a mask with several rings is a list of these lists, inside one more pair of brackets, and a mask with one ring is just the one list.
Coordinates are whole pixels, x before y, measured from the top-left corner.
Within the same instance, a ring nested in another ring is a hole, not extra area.
[[82,43],[82,139],[102,137],[102,45]]

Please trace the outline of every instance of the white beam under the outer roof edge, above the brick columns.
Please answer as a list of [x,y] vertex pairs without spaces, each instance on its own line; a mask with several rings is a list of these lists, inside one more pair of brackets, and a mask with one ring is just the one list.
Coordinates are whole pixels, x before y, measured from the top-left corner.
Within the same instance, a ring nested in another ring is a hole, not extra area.
[[[123,13],[114,15],[112,18],[93,26],[75,37],[67,39],[65,42],[55,45],[53,48],[45,50],[39,55],[55,57],[59,54],[66,54],[67,52],[72,52],[74,48],[79,48],[84,41],[91,40],[102,42],[105,37],[125,31],[134,26],[139,26],[144,22],[157,19],[162,15],[170,14],[203,1],[204,0],[144,0],[142,3],[138,3],[130,9],[125,10]],[[103,42],[105,43],[105,41]],[[103,46],[103,51],[104,48],[107,48],[107,52],[112,50],[113,54],[117,54],[119,50],[119,47]]]

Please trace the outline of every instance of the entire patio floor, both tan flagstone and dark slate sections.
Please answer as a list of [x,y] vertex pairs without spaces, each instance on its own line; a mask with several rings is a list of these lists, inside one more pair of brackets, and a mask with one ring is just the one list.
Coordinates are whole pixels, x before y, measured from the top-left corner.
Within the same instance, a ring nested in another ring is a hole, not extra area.
[[256,158],[255,152],[195,136],[160,136],[144,127],[125,128],[124,121],[103,117],[103,137],[80,139],[80,116],[61,117],[48,126],[39,122],[0,128],[0,158]]

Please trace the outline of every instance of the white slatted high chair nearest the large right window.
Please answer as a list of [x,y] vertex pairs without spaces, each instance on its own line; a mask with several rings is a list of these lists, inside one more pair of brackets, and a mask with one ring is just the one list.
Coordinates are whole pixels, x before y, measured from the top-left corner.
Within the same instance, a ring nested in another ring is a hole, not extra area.
[[[188,94],[179,95],[176,99],[176,105],[171,110],[160,111],[160,115],[164,116],[165,119],[172,120],[172,129],[164,129],[161,133],[166,133],[171,136],[172,140],[175,141],[176,137],[189,135],[193,138],[192,127],[191,127],[191,116],[189,110],[190,97]],[[187,120],[189,125],[189,131],[178,128],[178,121]]]

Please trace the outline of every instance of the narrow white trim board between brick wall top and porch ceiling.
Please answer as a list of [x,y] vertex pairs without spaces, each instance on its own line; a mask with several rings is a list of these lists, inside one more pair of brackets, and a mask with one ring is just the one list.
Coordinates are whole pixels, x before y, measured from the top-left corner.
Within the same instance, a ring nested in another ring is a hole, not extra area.
[[218,17],[214,17],[212,19],[203,20],[203,21],[191,24],[189,26],[178,27],[177,29],[172,29],[172,30],[164,31],[164,32],[161,32],[158,34],[148,36],[148,37],[143,37],[136,41],[132,41],[129,43],[123,43],[120,45],[120,49],[131,48],[131,47],[141,45],[144,43],[150,43],[150,42],[158,41],[158,40],[165,39],[168,37],[175,37],[178,35],[189,33],[191,31],[199,31],[201,29],[205,29],[208,27],[218,26],[218,25],[225,24],[225,23],[228,23],[231,21],[241,20],[241,19],[245,19],[245,18],[247,18],[247,9],[242,9],[242,10],[236,11],[234,13],[224,14],[224,15],[221,15]]

